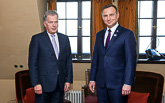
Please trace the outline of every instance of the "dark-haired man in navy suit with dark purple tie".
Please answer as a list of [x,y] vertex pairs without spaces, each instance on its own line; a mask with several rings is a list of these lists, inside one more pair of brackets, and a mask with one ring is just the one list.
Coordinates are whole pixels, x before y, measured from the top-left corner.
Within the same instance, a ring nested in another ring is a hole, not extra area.
[[135,79],[136,39],[134,33],[118,23],[115,5],[102,10],[106,29],[96,34],[89,88],[97,86],[99,103],[127,103]]

